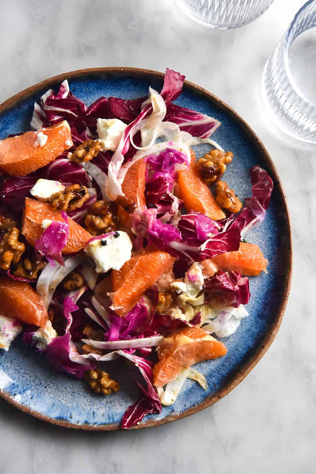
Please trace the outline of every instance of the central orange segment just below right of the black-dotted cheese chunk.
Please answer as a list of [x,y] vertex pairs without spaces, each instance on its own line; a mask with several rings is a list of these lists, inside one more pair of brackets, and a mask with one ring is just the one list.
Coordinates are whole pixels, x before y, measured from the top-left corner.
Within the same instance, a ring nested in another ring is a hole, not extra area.
[[120,270],[113,270],[111,308],[119,316],[125,316],[143,293],[172,267],[174,260],[167,252],[152,250],[133,256]]

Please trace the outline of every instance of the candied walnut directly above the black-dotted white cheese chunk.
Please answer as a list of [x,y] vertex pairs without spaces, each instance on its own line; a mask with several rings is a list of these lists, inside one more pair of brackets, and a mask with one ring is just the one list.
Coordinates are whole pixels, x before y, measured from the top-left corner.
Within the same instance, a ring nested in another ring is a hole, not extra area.
[[116,206],[113,201],[97,201],[88,209],[84,223],[92,236],[98,236],[116,230]]

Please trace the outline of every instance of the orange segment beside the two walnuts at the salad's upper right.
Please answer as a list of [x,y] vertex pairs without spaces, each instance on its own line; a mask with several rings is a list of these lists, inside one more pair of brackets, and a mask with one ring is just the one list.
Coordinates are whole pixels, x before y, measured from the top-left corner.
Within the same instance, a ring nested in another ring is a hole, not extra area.
[[196,157],[193,150],[189,168],[179,171],[178,185],[179,197],[184,201],[188,211],[201,212],[214,220],[224,219],[225,213],[215,201],[209,187],[203,182],[195,167]]

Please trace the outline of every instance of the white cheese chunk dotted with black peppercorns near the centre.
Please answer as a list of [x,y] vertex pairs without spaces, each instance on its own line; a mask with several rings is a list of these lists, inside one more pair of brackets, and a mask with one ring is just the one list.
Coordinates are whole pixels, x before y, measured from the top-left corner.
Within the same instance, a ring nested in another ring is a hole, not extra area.
[[96,264],[97,273],[119,270],[131,258],[132,242],[126,232],[118,231],[103,239],[92,240],[84,249]]

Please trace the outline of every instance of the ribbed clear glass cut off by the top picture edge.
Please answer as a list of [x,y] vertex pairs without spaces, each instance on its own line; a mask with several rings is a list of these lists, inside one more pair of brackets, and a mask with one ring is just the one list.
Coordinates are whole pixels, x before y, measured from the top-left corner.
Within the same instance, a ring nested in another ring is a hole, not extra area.
[[176,0],[190,18],[210,28],[238,28],[260,17],[274,0]]

